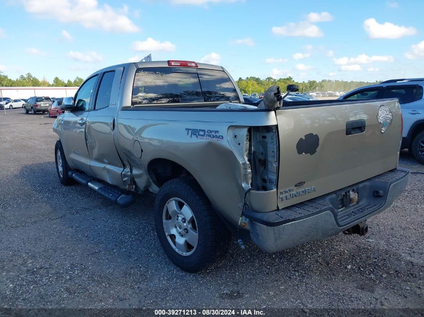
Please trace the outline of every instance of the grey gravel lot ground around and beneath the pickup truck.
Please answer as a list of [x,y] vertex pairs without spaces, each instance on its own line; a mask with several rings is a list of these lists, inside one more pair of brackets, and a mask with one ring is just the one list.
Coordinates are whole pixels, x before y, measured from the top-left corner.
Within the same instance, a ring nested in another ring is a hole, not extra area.
[[233,240],[207,271],[174,266],[156,237],[154,198],[119,208],[57,180],[54,119],[0,112],[0,307],[413,307],[424,305],[424,165],[409,186],[343,235],[275,254]]

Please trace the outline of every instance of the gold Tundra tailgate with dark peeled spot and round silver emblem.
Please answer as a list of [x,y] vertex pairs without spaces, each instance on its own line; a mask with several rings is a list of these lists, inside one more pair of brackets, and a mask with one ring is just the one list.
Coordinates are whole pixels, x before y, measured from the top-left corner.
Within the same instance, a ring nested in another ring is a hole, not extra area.
[[397,100],[282,107],[276,118],[279,208],[397,166],[402,124]]

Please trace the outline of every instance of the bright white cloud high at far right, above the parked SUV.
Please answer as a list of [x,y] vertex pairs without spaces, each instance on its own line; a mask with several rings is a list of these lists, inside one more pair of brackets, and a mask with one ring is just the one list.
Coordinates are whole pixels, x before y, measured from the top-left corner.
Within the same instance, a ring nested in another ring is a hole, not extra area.
[[415,28],[397,26],[390,22],[379,24],[374,18],[365,20],[363,27],[371,39],[399,39],[417,34]]

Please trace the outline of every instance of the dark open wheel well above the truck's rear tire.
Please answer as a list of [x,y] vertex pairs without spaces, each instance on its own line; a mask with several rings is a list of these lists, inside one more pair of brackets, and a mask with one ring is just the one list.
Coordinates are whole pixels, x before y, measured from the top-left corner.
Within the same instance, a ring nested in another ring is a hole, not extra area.
[[150,178],[158,187],[161,187],[171,179],[181,176],[192,176],[190,172],[180,164],[162,158],[150,161],[147,170]]

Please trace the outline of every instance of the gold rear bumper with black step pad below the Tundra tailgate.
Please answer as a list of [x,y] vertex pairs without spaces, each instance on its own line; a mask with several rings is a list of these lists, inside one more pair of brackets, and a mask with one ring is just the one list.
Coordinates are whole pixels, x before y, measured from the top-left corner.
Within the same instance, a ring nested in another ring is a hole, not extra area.
[[[284,209],[246,210],[250,238],[271,253],[330,237],[388,208],[405,191],[408,178],[409,171],[399,168]],[[358,203],[338,210],[337,195],[353,188]]]

